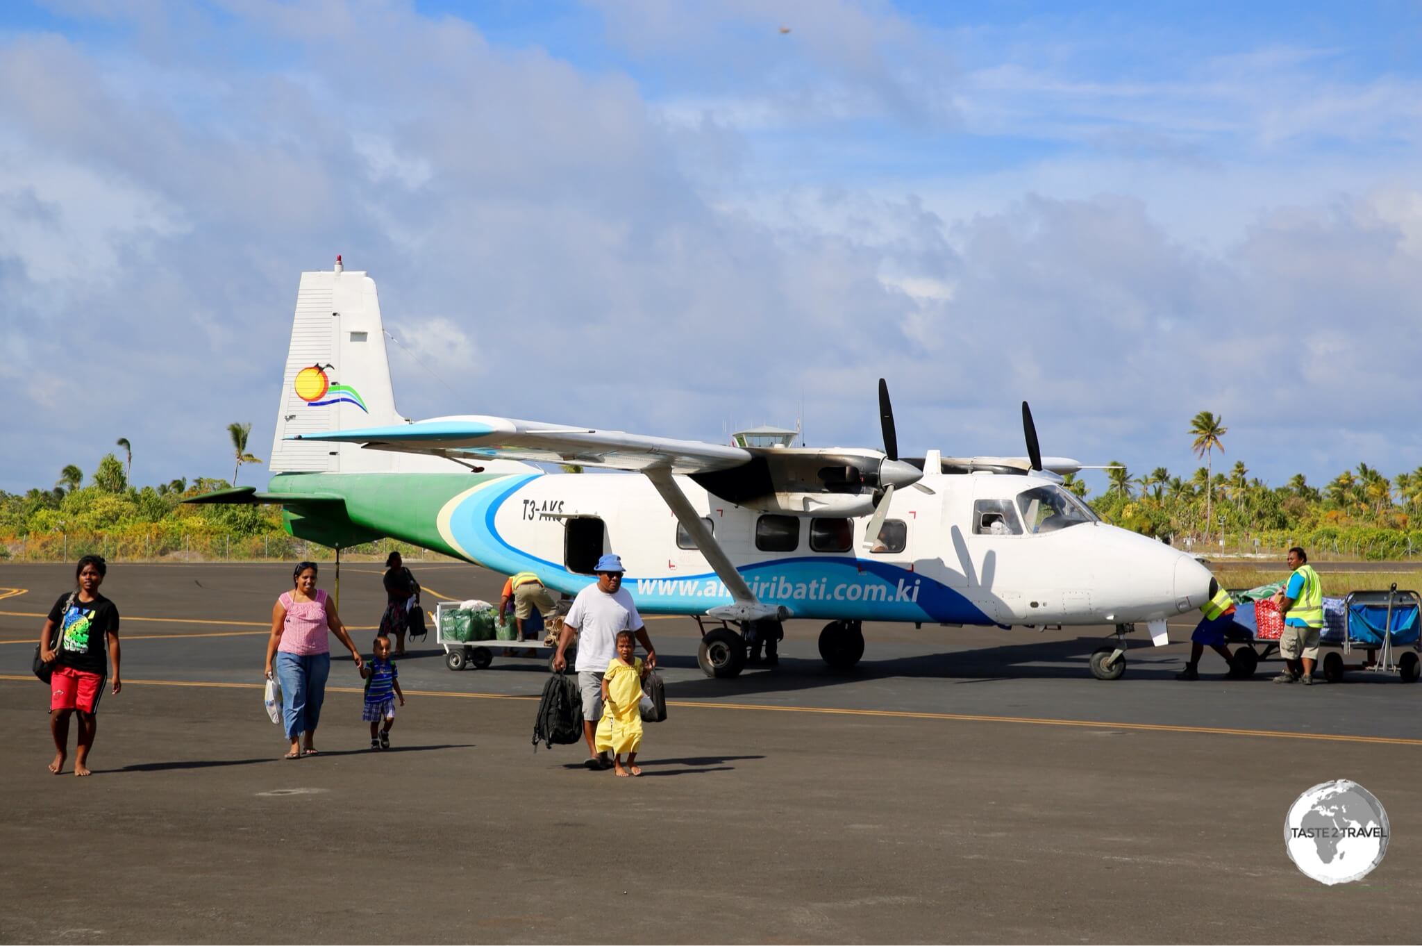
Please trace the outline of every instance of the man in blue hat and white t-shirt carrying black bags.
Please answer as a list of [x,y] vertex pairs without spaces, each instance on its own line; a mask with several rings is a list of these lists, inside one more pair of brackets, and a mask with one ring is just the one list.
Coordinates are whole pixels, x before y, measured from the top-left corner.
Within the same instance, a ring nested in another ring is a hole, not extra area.
[[557,654],[553,657],[553,669],[563,670],[567,660],[563,652],[567,643],[577,636],[577,689],[583,694],[583,738],[587,740],[587,768],[611,768],[613,762],[606,755],[597,753],[593,741],[597,733],[597,720],[603,716],[603,673],[607,664],[617,656],[617,632],[630,630],[643,650],[647,652],[647,666],[657,666],[657,652],[647,637],[647,627],[641,623],[641,615],[631,600],[631,595],[621,586],[621,576],[626,569],[621,559],[607,553],[597,559],[593,572],[597,573],[597,583],[589,585],[573,599],[573,607],[563,619],[563,633],[557,639]]

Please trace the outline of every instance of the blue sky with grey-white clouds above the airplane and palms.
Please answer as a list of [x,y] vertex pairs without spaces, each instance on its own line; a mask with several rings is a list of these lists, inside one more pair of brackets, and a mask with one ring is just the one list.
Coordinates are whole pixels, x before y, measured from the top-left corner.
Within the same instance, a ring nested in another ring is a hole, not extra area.
[[[1321,485],[1422,464],[1422,4],[0,6],[0,489],[270,455],[303,270],[397,403]],[[1096,487],[1101,474],[1091,474]],[[245,467],[243,482],[264,482]]]

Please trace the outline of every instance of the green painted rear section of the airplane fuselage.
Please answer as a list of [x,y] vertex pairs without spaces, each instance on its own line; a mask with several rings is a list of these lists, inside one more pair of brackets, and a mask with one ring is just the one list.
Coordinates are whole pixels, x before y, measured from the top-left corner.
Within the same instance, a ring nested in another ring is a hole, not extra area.
[[[439,535],[439,511],[471,487],[505,477],[506,474],[277,474],[267,485],[267,492],[290,496],[294,508],[289,506],[286,525],[297,538],[321,545],[358,545],[388,536],[465,559]],[[301,506],[301,494],[341,496],[346,501],[344,514],[314,504]]]

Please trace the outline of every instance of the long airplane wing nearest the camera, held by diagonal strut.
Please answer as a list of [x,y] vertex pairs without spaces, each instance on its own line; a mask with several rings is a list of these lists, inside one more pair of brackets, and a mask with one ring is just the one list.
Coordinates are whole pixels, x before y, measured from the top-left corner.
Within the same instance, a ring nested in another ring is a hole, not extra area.
[[681,475],[732,469],[752,457],[739,447],[489,415],[438,417],[414,424],[299,434],[289,440],[364,444],[371,450],[452,458],[582,464],[634,472],[658,469]]

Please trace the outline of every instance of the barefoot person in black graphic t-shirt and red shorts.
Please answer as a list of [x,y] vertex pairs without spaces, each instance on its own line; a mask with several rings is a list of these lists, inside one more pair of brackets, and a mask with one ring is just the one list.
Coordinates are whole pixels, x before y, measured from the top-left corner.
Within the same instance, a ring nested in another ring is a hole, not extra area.
[[[118,607],[98,593],[108,566],[98,555],[85,555],[74,569],[77,590],[60,595],[40,632],[40,659],[51,664],[50,734],[54,737],[55,775],[64,768],[70,743],[70,716],[80,714],[74,774],[88,775],[88,754],[98,733],[98,701],[104,696],[108,663],[114,663],[112,693],[118,679]],[[107,647],[105,647],[107,644]]]

